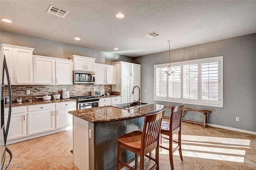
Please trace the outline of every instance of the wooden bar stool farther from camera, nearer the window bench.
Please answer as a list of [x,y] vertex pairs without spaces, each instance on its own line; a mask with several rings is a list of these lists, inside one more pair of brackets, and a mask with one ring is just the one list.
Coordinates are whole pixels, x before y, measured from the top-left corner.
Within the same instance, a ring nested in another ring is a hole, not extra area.
[[[170,119],[170,122],[162,121],[161,131],[160,131],[161,133],[160,148],[169,150],[170,164],[171,164],[172,170],[174,170],[173,153],[176,150],[179,150],[180,159],[183,160],[182,152],[181,152],[181,118],[182,118],[182,110],[183,110],[184,104],[180,106],[164,106],[164,107],[172,109],[172,113],[171,113],[171,116],[164,116],[164,118]],[[172,136],[176,133],[178,133],[178,141],[175,141],[172,138]],[[162,134],[169,136],[169,138],[163,137]],[[169,148],[162,146],[162,138],[169,140]],[[177,143],[178,146],[176,148],[172,148],[172,142]]]

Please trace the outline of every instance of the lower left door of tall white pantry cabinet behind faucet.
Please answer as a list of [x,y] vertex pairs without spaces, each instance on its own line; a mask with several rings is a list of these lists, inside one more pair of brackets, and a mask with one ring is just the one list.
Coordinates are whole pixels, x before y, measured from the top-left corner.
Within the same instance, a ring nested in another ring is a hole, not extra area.
[[132,88],[130,85],[130,77],[121,78],[121,103],[132,102]]

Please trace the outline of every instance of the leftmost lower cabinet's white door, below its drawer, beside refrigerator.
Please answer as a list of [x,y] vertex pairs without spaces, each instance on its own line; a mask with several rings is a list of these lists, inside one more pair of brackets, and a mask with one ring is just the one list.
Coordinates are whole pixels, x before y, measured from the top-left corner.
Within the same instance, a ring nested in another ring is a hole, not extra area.
[[[4,124],[6,127],[8,114],[4,116]],[[17,139],[24,136],[26,136],[26,113],[11,114],[7,140]]]

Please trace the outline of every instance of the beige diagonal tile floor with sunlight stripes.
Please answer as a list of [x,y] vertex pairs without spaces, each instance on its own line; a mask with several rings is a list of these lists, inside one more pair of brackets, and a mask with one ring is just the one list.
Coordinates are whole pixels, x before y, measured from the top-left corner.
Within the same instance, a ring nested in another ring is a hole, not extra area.
[[[177,136],[176,136],[177,137]],[[167,142],[164,141],[166,145]],[[72,163],[72,131],[8,145],[11,170],[78,170]],[[256,170],[256,136],[182,122],[182,154],[174,152],[175,170]],[[145,167],[153,164],[145,158]],[[170,170],[168,151],[160,152],[160,170]]]

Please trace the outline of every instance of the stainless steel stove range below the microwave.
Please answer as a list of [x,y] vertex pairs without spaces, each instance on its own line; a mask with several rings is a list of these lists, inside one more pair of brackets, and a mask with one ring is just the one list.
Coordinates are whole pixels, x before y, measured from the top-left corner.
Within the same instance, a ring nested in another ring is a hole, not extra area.
[[98,107],[100,102],[98,96],[72,96],[70,98],[77,100],[77,110]]

